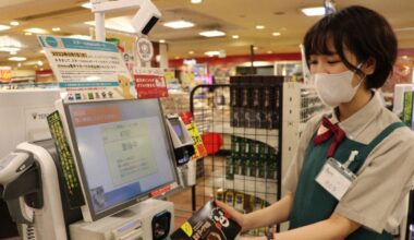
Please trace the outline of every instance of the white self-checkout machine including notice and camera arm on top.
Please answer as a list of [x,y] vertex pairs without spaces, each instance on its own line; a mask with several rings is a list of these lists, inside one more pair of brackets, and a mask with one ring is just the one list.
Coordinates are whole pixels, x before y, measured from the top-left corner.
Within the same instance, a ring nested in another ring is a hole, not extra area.
[[[139,5],[142,32],[160,15],[149,0],[93,5],[97,22],[105,11]],[[159,100],[133,99],[114,45],[38,39],[65,93],[48,116],[53,141],[19,144],[0,160],[0,193],[23,239],[167,238],[173,204],[147,200],[178,187]]]

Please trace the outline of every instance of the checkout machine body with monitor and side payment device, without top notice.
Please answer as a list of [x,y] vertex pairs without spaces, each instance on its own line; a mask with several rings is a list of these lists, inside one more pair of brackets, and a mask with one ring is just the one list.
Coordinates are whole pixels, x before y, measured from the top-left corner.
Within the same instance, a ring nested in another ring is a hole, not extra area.
[[167,239],[173,204],[157,197],[188,183],[194,153],[180,118],[166,120],[158,99],[56,107],[52,140],[0,158],[0,196],[22,238]]

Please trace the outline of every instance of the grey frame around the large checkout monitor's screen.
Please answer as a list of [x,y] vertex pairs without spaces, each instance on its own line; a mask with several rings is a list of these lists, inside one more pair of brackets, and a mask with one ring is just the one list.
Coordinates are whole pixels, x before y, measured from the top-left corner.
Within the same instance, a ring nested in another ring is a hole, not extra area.
[[[117,204],[117,205],[113,205],[111,206],[110,208],[108,209],[104,209],[99,213],[96,213],[95,209],[94,209],[94,205],[93,205],[93,199],[92,199],[92,195],[90,195],[90,192],[89,192],[89,189],[88,189],[88,181],[87,181],[87,178],[86,178],[86,172],[85,172],[85,169],[84,169],[84,166],[83,166],[83,163],[82,163],[82,158],[81,158],[81,153],[78,151],[78,145],[77,145],[77,141],[76,141],[76,136],[75,136],[75,131],[74,131],[74,125],[73,125],[73,122],[71,120],[71,115],[70,115],[70,106],[71,105],[88,105],[88,104],[94,104],[94,103],[97,103],[97,104],[102,104],[102,103],[108,103],[108,104],[121,104],[121,101],[133,101],[133,100],[155,100],[155,99],[125,99],[125,100],[111,100],[111,101],[84,101],[84,103],[64,103],[63,104],[63,110],[64,110],[64,115],[65,115],[65,118],[66,118],[66,123],[68,123],[68,130],[69,130],[69,134],[70,134],[70,139],[72,141],[72,153],[74,155],[74,158],[75,158],[75,164],[76,164],[76,167],[77,167],[77,173],[80,176],[80,180],[81,180],[81,187],[82,187],[82,190],[83,190],[83,193],[84,193],[84,196],[85,196],[85,207],[87,207],[86,209],[86,214],[88,214],[89,216],[88,217],[85,217],[84,215],[84,218],[86,220],[86,218],[90,218],[90,220],[95,221],[95,220],[98,220],[100,218],[104,218],[104,217],[107,217],[107,216],[110,216],[110,215],[113,215],[115,213],[119,213],[123,209],[126,209],[127,207],[130,206],[133,206],[135,205],[136,203],[138,202],[142,202],[146,199],[149,199],[150,197],[150,193],[153,191],[156,191],[156,190],[159,190],[159,189],[163,189],[168,185],[171,185],[175,182],[178,182],[178,172],[176,172],[176,165],[174,163],[174,155],[173,155],[173,146],[172,146],[172,143],[170,141],[170,133],[167,129],[167,122],[166,122],[166,118],[163,117],[163,110],[162,110],[162,107],[161,107],[161,104],[160,104],[160,100],[157,99],[158,104],[157,106],[159,107],[159,111],[158,111],[158,118],[161,120],[162,124],[161,124],[161,132],[165,134],[165,142],[166,142],[166,146],[167,146],[167,154],[168,154],[168,157],[170,158],[170,163],[171,163],[171,166],[173,169],[172,170],[172,175],[173,175],[173,180],[170,181],[170,182],[167,182],[166,184],[162,184],[162,185],[159,185],[158,188],[155,188],[155,189],[151,189],[149,191],[146,191],[146,192],[143,192],[141,194],[138,194],[136,197],[133,197],[129,201],[125,201],[125,202],[122,202],[120,204]],[[83,214],[84,211],[83,211]]]

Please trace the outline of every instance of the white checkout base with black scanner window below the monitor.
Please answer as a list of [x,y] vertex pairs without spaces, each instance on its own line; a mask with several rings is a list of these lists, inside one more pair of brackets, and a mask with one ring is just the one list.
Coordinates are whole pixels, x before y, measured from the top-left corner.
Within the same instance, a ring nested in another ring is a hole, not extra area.
[[173,230],[173,203],[149,199],[97,221],[69,226],[72,240],[161,240]]

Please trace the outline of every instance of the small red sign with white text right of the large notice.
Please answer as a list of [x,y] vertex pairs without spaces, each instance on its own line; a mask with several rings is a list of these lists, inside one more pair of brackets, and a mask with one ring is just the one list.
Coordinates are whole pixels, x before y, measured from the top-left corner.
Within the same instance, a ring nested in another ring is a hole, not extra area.
[[163,75],[136,74],[134,75],[134,80],[138,98],[168,97],[168,89]]

